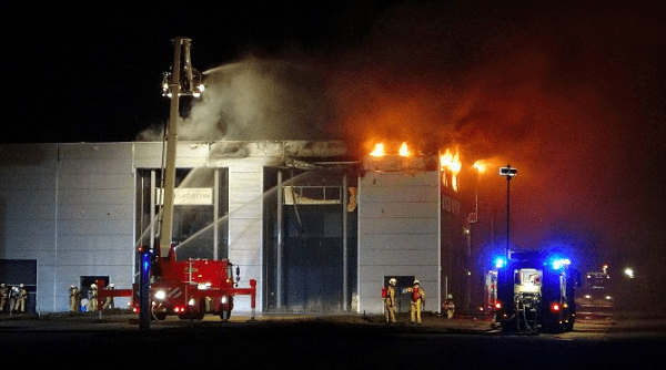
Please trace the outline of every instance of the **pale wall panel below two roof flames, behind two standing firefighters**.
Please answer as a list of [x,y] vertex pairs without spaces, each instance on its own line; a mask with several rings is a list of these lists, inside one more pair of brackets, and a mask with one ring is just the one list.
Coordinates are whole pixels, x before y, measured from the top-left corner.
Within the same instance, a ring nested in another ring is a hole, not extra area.
[[369,172],[360,178],[359,312],[383,311],[385,276],[415,276],[431,301],[440,301],[438,198],[437,172]]

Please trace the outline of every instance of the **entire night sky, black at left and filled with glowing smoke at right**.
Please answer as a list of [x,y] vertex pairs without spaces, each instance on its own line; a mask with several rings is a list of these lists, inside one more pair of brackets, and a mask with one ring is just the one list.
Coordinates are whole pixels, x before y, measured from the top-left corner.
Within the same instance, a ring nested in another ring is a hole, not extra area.
[[[559,240],[665,278],[665,6],[296,3],[17,4],[2,142],[150,137],[169,115],[170,40],[188,37],[224,97],[188,107],[199,119],[183,126],[199,126],[185,138],[458,146],[466,164],[518,168],[518,247]],[[484,174],[482,202],[503,209],[505,184]]]

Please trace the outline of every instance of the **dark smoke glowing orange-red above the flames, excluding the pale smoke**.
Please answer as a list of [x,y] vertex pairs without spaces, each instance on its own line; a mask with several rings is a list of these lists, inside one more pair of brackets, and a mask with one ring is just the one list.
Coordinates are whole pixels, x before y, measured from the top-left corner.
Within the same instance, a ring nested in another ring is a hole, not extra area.
[[[664,153],[660,12],[467,6],[394,7],[336,61],[329,86],[349,138],[460,145],[467,164],[518,167],[521,247],[577,237],[599,259],[657,249],[664,175],[647,163]],[[502,208],[505,182],[492,173],[481,185]]]

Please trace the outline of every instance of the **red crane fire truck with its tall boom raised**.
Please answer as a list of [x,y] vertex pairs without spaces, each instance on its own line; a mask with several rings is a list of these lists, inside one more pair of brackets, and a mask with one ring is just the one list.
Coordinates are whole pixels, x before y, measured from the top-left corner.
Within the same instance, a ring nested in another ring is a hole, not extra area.
[[[256,280],[250,279],[250,288],[238,288],[240,269],[236,267],[236,279],[233,281],[233,265],[226,259],[186,259],[178,260],[175,246],[172,244],[173,198],[175,187],[175,151],[179,121],[179,96],[199,96],[203,91],[201,75],[194,73],[190,61],[191,40],[174,40],[175,52],[172,72],[164,81],[164,95],[171,99],[171,115],[167,125],[162,220],[160,223],[160,244],[155,250],[142,246],[138,250],[140,257],[140,281],[133,285],[132,310],[140,314],[140,323],[149,318],[163,320],[169,315],[181,319],[202,319],[206,312],[229,319],[233,309],[233,299],[238,295],[251,296],[252,318],[254,318],[256,300]],[[181,64],[183,78],[181,79]],[[142,294],[143,292],[143,294]],[[125,297],[130,289],[104,289],[99,287],[98,299],[102,302],[107,297]],[[102,307],[101,305],[99,307]],[[141,310],[144,310],[141,312]]]

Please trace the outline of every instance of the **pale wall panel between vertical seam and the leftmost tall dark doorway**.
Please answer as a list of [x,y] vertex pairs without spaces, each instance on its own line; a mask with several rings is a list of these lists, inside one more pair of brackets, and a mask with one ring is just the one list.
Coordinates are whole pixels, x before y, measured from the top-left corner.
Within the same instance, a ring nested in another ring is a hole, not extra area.
[[[134,265],[132,143],[62,144],[58,162],[58,235],[53,310],[68,308],[68,289],[80,276],[109,276],[130,288]],[[62,288],[67,287],[64,290]]]

